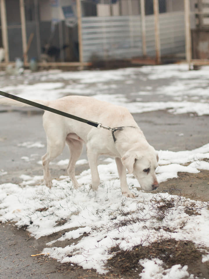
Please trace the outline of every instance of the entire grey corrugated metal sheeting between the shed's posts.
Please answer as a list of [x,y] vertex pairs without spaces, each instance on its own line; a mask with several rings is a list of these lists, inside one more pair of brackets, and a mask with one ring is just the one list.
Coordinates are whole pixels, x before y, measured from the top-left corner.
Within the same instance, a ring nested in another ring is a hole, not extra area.
[[[154,15],[145,17],[147,55],[155,56]],[[161,55],[185,52],[184,12],[159,15]],[[140,16],[83,17],[84,61],[142,56]]]

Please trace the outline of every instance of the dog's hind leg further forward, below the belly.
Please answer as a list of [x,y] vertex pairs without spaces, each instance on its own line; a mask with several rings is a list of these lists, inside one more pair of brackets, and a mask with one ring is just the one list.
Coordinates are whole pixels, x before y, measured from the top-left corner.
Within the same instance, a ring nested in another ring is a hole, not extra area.
[[[77,179],[75,178],[75,163],[79,159],[79,157],[82,153],[83,141],[73,139],[71,137],[71,135],[72,134],[69,134],[66,137],[66,143],[67,143],[67,145],[69,147],[69,151],[70,151],[70,160],[69,160],[69,164],[68,164],[68,167],[67,167],[67,172],[68,172],[68,175],[69,175],[69,177],[70,177],[70,179],[73,183],[73,187],[76,189],[76,188],[79,187],[79,184],[78,184]],[[75,134],[73,134],[73,135],[75,135]],[[79,139],[79,137],[78,137],[78,139]]]

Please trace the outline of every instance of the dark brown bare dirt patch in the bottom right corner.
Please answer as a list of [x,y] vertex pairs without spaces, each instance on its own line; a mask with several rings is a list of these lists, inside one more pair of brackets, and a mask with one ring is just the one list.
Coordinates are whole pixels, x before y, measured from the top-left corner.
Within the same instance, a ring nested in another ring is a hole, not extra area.
[[[164,268],[170,268],[175,264],[188,265],[188,271],[195,276],[200,276],[199,278],[208,278],[209,275],[207,264],[201,262],[202,255],[206,252],[203,251],[203,247],[196,247],[191,241],[164,239],[151,243],[147,247],[138,245],[127,251],[112,247],[110,253],[115,255],[108,260],[108,268],[114,270],[116,276],[123,278],[139,278],[138,274],[143,270],[139,260],[154,258],[162,260],[165,264]],[[205,270],[204,274],[202,270]]]

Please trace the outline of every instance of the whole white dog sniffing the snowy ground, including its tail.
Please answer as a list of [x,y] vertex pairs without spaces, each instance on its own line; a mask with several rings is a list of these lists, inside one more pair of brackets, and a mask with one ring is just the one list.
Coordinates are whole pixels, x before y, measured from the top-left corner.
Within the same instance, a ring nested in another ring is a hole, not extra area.
[[[111,133],[109,130],[97,129],[86,123],[45,111],[43,126],[47,138],[47,152],[42,157],[42,163],[44,181],[48,187],[51,187],[49,162],[62,153],[65,144],[68,145],[70,151],[67,171],[74,188],[79,187],[75,178],[75,163],[85,143],[93,190],[97,190],[100,184],[97,169],[99,155],[115,158],[124,196],[134,197],[127,185],[126,169],[129,174],[136,177],[142,189],[146,191],[157,189],[159,186],[155,174],[158,166],[157,152],[148,144],[143,132],[126,108],[86,96],[67,96],[54,101],[35,101],[90,121],[102,123],[104,126],[119,127]],[[0,104],[27,106],[7,98],[0,99]]]

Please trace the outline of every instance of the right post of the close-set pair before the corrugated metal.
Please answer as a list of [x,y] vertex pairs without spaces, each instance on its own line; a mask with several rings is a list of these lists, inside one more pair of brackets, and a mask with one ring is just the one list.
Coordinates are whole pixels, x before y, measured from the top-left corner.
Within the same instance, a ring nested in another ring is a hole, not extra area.
[[160,62],[161,62],[161,49],[160,49],[159,4],[158,4],[158,0],[153,0],[153,8],[154,8],[154,22],[155,22],[156,62],[157,62],[157,64],[160,64]]

